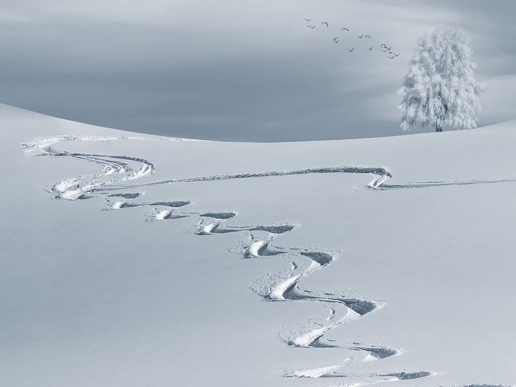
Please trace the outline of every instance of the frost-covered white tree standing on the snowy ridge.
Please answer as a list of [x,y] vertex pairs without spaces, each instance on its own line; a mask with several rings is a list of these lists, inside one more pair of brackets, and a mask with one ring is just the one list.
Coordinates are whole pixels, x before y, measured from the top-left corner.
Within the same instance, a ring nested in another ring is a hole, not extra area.
[[434,127],[477,127],[480,94],[486,84],[474,80],[477,64],[471,61],[472,49],[459,30],[435,28],[419,37],[416,54],[398,94],[403,98],[401,128],[412,125]]

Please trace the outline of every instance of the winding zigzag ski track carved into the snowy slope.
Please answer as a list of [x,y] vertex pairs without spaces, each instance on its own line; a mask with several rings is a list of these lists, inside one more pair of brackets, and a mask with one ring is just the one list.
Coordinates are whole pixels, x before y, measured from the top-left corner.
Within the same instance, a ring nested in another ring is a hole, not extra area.
[[[352,343],[337,343],[333,339],[325,339],[324,335],[339,325],[349,323],[377,311],[385,304],[382,300],[367,300],[333,294],[313,289],[303,289],[300,282],[307,276],[328,267],[333,260],[340,255],[339,251],[325,249],[303,248],[303,247],[279,247],[273,245],[280,235],[293,231],[297,224],[261,224],[248,226],[225,226],[223,222],[237,216],[234,212],[206,212],[194,213],[179,210],[191,203],[188,200],[176,201],[154,201],[154,202],[133,202],[138,199],[142,192],[133,192],[138,188],[156,186],[169,183],[188,183],[193,181],[215,181],[227,179],[248,179],[257,177],[280,177],[299,174],[322,174],[322,173],[360,173],[374,175],[374,179],[367,184],[367,188],[374,190],[391,190],[406,188],[428,188],[436,186],[460,186],[469,184],[503,183],[516,181],[516,179],[492,180],[492,181],[427,181],[407,183],[405,185],[387,185],[385,181],[391,178],[391,172],[387,168],[348,165],[341,167],[310,168],[292,171],[273,171],[263,173],[241,173],[221,174],[207,177],[190,177],[186,179],[169,179],[154,183],[127,184],[126,182],[140,179],[149,174],[154,174],[154,165],[138,157],[117,156],[105,154],[86,154],[54,150],[52,145],[64,141],[192,141],[183,138],[146,138],[146,137],[117,137],[117,136],[48,136],[36,138],[33,141],[22,143],[20,148],[26,153],[35,156],[66,157],[89,163],[95,163],[102,168],[100,172],[92,175],[84,175],[58,181],[46,190],[55,199],[80,200],[90,198],[101,198],[107,202],[108,210],[121,208],[149,207],[151,215],[146,219],[148,222],[163,221],[167,219],[179,219],[192,217],[197,220],[194,231],[196,235],[218,235],[225,233],[245,233],[248,236],[246,242],[234,246],[232,251],[239,253],[243,258],[261,258],[279,256],[291,262],[291,269],[283,273],[270,273],[258,278],[252,285],[252,289],[264,300],[281,301],[304,301],[315,302],[326,306],[329,309],[329,316],[324,322],[311,323],[303,326],[300,330],[287,329],[283,332],[282,339],[293,347],[297,348],[343,348],[356,351],[360,356],[348,358],[338,364],[307,368],[304,370],[293,370],[285,372],[284,377],[297,378],[342,378],[352,379],[349,384],[338,386],[359,387],[371,384],[378,384],[387,381],[405,381],[420,379],[439,375],[436,372],[403,371],[403,372],[370,372],[367,374],[353,374],[344,372],[342,369],[353,363],[363,363],[374,360],[388,359],[405,353],[400,348],[389,348],[379,345]],[[120,192],[126,190],[129,192]],[[495,387],[491,385],[472,385],[467,387]]]

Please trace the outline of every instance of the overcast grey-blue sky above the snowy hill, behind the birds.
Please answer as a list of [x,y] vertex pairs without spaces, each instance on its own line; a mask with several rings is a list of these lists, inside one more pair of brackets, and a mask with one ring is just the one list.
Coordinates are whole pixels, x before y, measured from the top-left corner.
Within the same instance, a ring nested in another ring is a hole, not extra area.
[[514,0],[0,0],[0,102],[192,138],[391,136],[416,38],[445,26],[470,36],[485,125],[516,118],[514,15]]

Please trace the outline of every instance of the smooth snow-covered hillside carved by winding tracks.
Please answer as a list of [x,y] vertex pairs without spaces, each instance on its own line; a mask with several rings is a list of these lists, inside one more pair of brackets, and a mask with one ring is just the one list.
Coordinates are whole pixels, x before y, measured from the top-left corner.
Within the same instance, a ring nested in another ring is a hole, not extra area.
[[261,144],[0,115],[1,386],[516,384],[516,123]]

